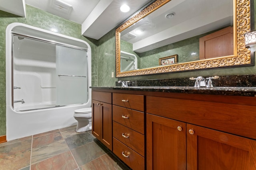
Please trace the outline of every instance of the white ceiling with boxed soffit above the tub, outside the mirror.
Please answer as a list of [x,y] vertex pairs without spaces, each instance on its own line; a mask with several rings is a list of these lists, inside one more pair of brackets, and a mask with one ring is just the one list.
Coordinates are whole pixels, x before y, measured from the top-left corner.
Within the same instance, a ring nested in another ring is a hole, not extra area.
[[[26,3],[56,16],[80,23],[82,24],[82,35],[100,39],[151,0],[59,0],[72,6],[68,14],[54,8],[53,1],[0,0],[0,10],[25,17]],[[130,11],[121,12],[119,8],[122,4],[130,6]]]

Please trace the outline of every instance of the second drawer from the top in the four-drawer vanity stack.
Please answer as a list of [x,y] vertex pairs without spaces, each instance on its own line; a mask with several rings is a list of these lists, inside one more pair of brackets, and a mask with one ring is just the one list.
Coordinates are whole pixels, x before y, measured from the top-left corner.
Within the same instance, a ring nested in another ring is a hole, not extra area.
[[144,113],[113,105],[113,120],[144,134]]

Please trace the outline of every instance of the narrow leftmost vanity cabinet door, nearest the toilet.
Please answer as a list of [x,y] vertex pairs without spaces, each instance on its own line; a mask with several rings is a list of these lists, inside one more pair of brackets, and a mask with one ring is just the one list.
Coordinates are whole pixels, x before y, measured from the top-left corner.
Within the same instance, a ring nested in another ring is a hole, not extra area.
[[100,140],[100,102],[92,100],[92,134]]

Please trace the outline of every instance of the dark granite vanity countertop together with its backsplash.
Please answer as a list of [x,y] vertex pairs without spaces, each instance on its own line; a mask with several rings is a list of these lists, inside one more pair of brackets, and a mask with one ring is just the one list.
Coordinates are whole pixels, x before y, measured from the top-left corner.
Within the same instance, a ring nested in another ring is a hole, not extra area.
[[195,88],[194,80],[171,78],[154,80],[130,80],[127,88],[116,82],[115,86],[91,87],[93,89],[133,90],[145,92],[169,92],[190,94],[214,94],[228,96],[256,96],[256,74],[220,76],[212,80],[214,88]]

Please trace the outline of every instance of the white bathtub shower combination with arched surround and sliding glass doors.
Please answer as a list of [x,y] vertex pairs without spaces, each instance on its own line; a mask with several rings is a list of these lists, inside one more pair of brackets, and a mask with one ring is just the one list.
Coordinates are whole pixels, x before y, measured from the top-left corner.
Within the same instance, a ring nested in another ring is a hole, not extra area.
[[88,43],[22,23],[6,29],[7,140],[75,125],[91,105]]

